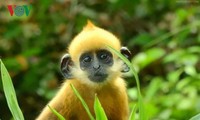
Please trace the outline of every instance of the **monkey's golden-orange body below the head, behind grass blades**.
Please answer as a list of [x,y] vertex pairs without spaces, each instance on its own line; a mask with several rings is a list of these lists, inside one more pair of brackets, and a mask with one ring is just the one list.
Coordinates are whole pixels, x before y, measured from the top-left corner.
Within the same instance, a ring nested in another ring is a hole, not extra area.
[[[82,84],[76,80],[65,82],[49,105],[63,115],[66,120],[89,120],[85,109],[70,88],[70,84],[73,84],[79,91],[93,115],[94,96],[97,94],[108,120],[128,119],[126,87],[124,81],[118,78],[110,84],[97,88]],[[46,107],[37,120],[57,120],[57,118]]]

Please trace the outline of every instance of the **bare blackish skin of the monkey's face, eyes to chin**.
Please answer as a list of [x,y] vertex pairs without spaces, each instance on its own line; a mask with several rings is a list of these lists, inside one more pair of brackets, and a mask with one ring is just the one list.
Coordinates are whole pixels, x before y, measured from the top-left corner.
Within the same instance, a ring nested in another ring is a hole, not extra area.
[[113,55],[107,50],[85,52],[80,59],[81,70],[87,73],[89,80],[103,82],[108,77],[108,68],[113,65]]

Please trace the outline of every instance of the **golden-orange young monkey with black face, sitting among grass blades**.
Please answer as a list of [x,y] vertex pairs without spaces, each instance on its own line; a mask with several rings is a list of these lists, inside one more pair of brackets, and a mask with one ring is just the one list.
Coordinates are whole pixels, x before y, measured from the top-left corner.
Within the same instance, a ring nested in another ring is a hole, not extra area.
[[[114,34],[88,21],[70,43],[68,53],[61,58],[60,69],[66,80],[48,105],[66,120],[89,120],[70,84],[80,93],[93,116],[94,99],[97,95],[108,120],[128,119],[128,96],[122,73],[128,72],[129,67],[107,45],[130,59],[130,51],[121,46]],[[56,119],[48,106],[36,118]]]

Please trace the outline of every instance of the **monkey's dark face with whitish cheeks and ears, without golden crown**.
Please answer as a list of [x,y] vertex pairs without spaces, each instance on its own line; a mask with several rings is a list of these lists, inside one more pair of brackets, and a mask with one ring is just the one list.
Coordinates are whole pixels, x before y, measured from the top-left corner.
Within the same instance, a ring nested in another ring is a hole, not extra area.
[[[130,51],[126,47],[120,50],[128,59]],[[69,54],[61,59],[61,72],[67,79],[79,79],[92,83],[103,83],[106,80],[119,76],[120,72],[128,72],[128,66],[106,49],[83,52],[78,62],[72,61]]]

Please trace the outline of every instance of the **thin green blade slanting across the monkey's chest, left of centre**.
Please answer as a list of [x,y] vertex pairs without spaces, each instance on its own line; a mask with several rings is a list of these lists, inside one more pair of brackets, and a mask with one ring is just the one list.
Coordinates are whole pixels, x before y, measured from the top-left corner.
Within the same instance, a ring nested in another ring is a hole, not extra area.
[[78,91],[76,90],[76,88],[72,84],[70,84],[70,86],[71,86],[72,90],[74,91],[74,93],[76,94],[76,96],[78,97],[78,99],[81,101],[83,107],[85,108],[87,114],[90,117],[90,120],[95,120],[94,117],[92,116],[91,112],[90,112],[90,109],[89,109],[88,105],[83,100],[83,98],[81,97],[81,95],[78,93]]

